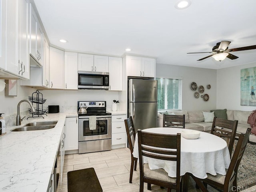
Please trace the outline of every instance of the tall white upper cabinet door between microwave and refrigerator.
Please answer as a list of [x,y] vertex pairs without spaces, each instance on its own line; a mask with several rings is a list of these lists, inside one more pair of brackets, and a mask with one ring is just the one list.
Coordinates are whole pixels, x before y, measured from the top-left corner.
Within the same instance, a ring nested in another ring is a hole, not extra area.
[[109,90],[122,91],[122,58],[108,58]]

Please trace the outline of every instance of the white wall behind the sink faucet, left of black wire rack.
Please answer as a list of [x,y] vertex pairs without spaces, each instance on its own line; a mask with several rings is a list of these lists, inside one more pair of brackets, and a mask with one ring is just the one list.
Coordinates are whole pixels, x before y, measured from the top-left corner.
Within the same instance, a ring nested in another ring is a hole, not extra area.
[[[0,113],[4,113],[3,116],[9,116],[10,114],[17,113],[18,102],[23,99],[28,99],[28,96],[31,96],[34,91],[35,90],[32,88],[20,86],[20,80],[18,80],[17,96],[5,96],[5,90],[0,92]],[[25,111],[26,106],[26,102],[20,104],[20,112]]]

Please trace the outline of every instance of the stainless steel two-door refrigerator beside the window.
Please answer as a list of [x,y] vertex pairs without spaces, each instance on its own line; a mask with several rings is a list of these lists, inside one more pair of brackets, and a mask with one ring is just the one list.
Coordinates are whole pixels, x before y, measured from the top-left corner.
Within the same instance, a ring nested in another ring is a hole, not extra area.
[[128,90],[128,114],[135,131],[157,127],[157,81],[129,79]]

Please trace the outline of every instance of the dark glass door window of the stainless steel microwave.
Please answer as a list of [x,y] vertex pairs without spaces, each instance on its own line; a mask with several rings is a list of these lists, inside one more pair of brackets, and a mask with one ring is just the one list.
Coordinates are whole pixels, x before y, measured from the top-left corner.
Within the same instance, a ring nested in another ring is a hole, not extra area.
[[79,85],[103,85],[104,76],[79,75]]

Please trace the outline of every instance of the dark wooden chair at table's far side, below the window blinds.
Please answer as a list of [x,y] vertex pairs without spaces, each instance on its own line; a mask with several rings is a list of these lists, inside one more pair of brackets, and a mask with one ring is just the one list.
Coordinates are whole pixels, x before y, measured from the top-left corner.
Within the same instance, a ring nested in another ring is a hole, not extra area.
[[163,127],[185,128],[185,115],[164,114]]

